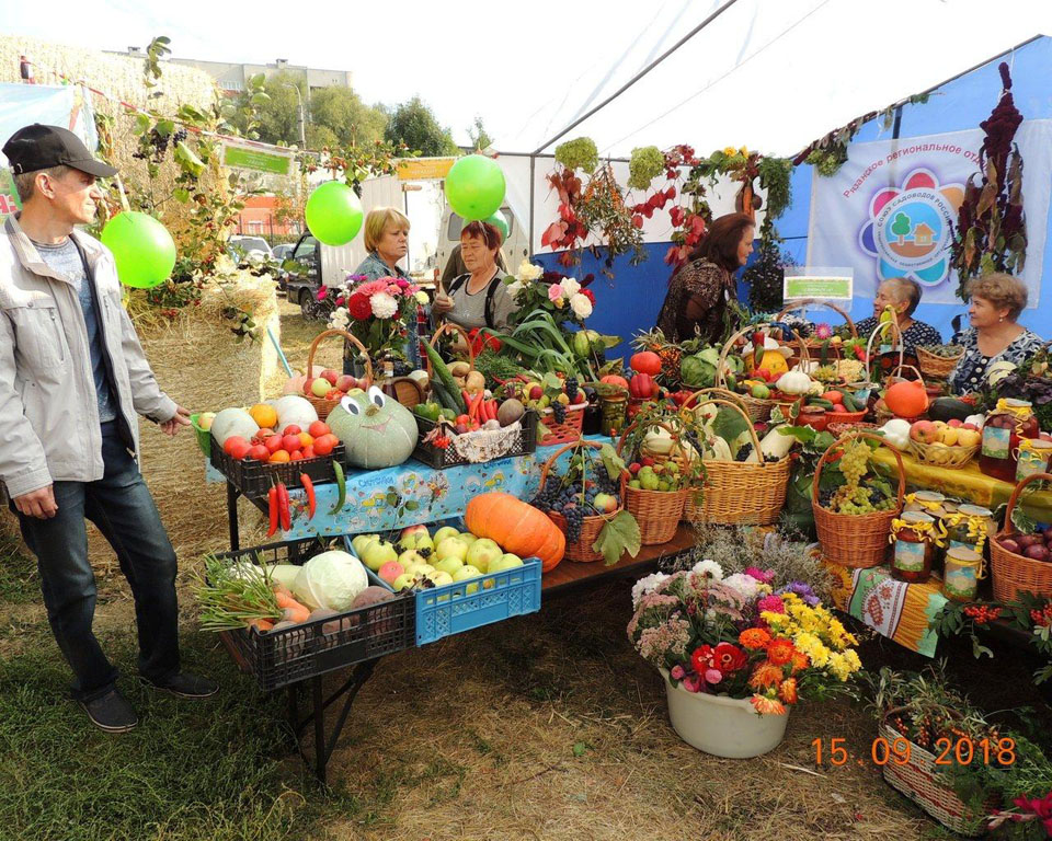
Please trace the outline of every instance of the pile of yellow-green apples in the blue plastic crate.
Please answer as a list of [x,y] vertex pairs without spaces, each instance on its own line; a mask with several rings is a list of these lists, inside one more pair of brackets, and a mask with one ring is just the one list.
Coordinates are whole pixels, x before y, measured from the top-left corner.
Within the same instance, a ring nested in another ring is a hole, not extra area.
[[[451,526],[443,526],[434,535],[426,526],[409,526],[393,543],[379,534],[358,534],[351,545],[362,562],[396,592],[470,581],[523,565],[518,555],[504,552],[494,541],[461,533]],[[490,588],[493,581],[483,586]],[[478,589],[478,583],[467,584],[465,592],[470,596]]]

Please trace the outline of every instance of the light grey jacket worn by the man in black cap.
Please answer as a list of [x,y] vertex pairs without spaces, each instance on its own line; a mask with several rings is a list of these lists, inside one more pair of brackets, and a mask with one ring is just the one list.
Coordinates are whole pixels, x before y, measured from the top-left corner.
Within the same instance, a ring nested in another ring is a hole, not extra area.
[[[136,413],[161,424],[175,416],[176,406],[158,388],[121,306],[113,254],[81,231],[72,237],[95,284],[118,422],[130,431],[138,457]],[[0,480],[15,497],[53,482],[94,482],[103,470],[99,403],[77,289],[47,267],[9,216],[0,239]]]

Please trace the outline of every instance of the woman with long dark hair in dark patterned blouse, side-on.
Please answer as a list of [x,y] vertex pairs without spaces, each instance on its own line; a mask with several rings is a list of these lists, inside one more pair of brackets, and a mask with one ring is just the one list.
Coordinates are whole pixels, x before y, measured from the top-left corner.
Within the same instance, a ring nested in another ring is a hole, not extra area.
[[737,300],[734,273],[753,251],[755,224],[745,214],[721,216],[677,268],[658,315],[658,326],[670,342],[695,336],[710,344],[723,335],[729,301]]

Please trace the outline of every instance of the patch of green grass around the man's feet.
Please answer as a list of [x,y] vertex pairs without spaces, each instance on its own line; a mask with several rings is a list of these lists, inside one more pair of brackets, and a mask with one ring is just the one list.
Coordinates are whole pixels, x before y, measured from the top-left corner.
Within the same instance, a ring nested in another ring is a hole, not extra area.
[[[126,670],[133,640],[104,641]],[[306,776],[282,696],[236,677],[210,637],[191,642],[191,666],[220,677],[219,696],[182,701],[124,678],[140,722],[119,736],[68,700],[54,642],[0,663],[0,838],[281,841],[308,838],[324,814],[357,811]]]

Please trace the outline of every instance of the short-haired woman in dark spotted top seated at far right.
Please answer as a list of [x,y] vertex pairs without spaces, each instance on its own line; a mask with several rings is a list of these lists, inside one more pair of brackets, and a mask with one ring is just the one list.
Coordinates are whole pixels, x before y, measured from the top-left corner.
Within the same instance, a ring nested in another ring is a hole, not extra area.
[[1027,306],[1027,287],[1000,272],[968,285],[968,315],[972,326],[957,337],[964,355],[950,372],[953,391],[963,394],[985,385],[991,362],[1021,362],[1041,347],[1041,337],[1016,323]]

